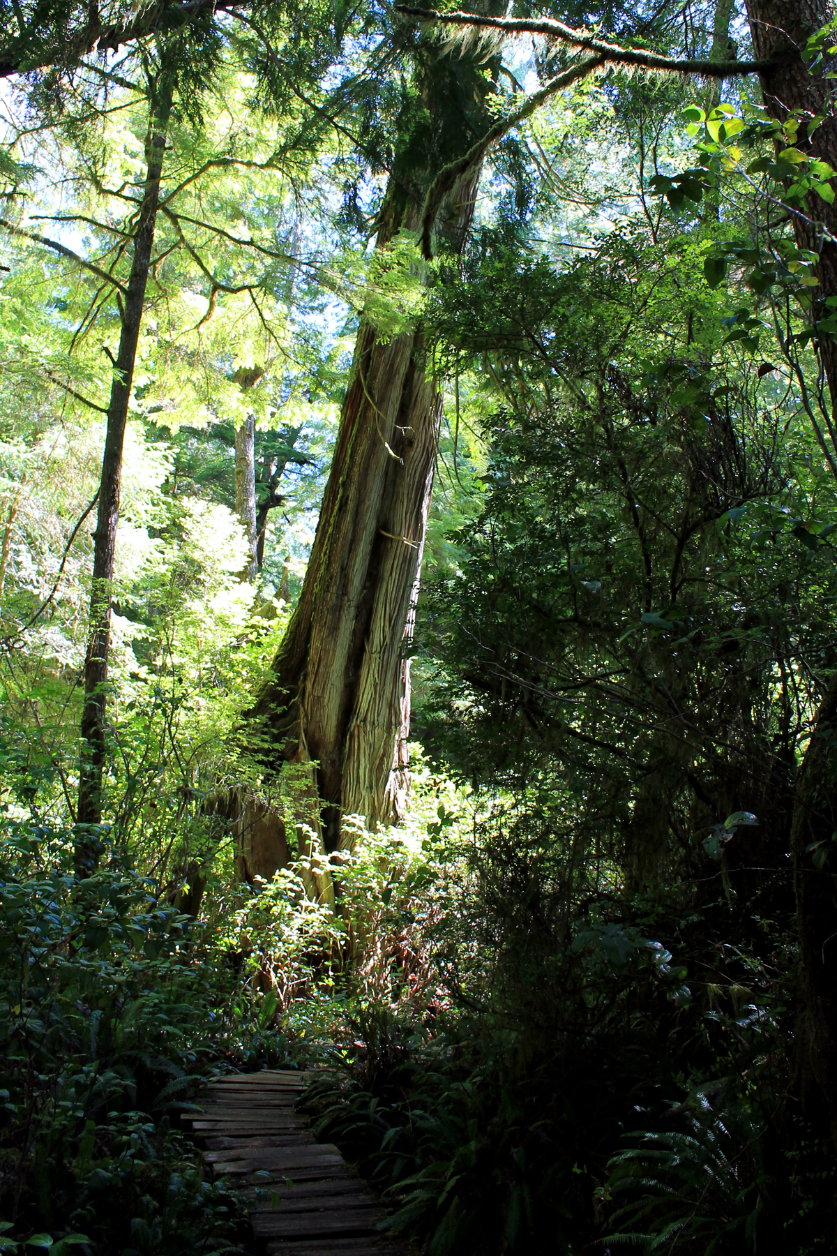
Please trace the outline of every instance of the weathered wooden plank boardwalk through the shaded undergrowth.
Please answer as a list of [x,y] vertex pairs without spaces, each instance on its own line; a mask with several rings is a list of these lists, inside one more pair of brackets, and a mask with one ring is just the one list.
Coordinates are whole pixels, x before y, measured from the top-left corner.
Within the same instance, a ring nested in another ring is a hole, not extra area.
[[[310,1075],[309,1075],[310,1076]],[[242,1073],[211,1081],[184,1114],[215,1177],[238,1187],[266,1256],[405,1256],[378,1231],[385,1212],[333,1143],[294,1110],[309,1076]]]

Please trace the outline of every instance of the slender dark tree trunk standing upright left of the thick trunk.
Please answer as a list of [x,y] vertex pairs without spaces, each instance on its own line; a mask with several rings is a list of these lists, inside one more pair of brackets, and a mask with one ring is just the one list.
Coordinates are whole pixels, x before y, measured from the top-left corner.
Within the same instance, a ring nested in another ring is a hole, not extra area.
[[[122,329],[119,352],[113,369],[108,426],[102,458],[99,511],[93,534],[93,584],[90,593],[90,629],[84,662],[84,708],[82,712],[82,756],[79,772],[79,824],[102,820],[102,780],[105,761],[105,702],[108,652],[110,646],[110,599],[113,564],[119,522],[122,487],[122,451],[128,421],[128,404],[137,358],[146,286],[151,268],[159,181],[166,152],[166,132],[172,108],[172,88],[161,74],[152,90],[151,118],[146,137],[146,182],[139,205],[139,217],[133,239],[131,276],[124,301],[120,303]],[[75,849],[79,873],[95,865],[98,842],[82,831]]]

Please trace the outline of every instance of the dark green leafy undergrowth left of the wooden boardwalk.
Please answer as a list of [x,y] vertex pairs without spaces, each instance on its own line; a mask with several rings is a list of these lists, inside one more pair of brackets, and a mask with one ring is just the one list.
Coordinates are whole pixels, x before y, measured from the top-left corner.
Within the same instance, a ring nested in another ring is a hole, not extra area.
[[5,824],[1,838],[4,1248],[230,1247],[235,1206],[174,1128],[218,1020],[187,919],[114,858],[74,882],[69,834]]

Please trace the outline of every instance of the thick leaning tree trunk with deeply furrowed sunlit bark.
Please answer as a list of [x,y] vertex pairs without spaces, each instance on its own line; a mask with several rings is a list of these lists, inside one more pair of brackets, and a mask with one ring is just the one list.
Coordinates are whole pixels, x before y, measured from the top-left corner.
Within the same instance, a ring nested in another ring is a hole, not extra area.
[[[489,122],[479,74],[486,58],[438,49],[425,57],[424,103],[444,148],[430,153],[435,165],[393,172],[378,250],[400,230],[418,231],[433,175],[463,156]],[[472,172],[448,196],[442,230],[454,251],[472,221],[477,181]],[[345,815],[361,814],[374,826],[403,813],[407,652],[440,416],[420,328],[384,340],[364,315],[302,592],[252,712],[275,747],[274,770],[307,765],[307,784],[299,788],[307,806],[306,828],[297,825],[302,850],[310,842],[326,852],[351,845]]]

